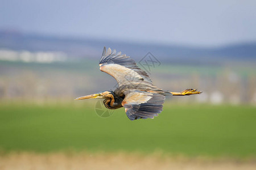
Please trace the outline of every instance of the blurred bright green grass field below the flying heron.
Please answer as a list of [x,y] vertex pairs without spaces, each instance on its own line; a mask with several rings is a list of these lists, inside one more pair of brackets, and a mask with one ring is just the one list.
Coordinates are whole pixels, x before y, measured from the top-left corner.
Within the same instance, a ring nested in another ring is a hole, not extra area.
[[153,120],[130,121],[123,108],[109,118],[101,118],[94,105],[0,104],[0,150],[256,156],[253,106],[167,102],[164,111]]

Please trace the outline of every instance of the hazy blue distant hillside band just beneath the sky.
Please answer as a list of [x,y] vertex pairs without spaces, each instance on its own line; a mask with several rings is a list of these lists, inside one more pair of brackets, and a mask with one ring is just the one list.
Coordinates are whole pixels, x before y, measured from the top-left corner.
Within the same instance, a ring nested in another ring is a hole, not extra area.
[[99,58],[104,46],[122,51],[137,60],[148,52],[161,61],[172,62],[216,62],[230,59],[255,61],[256,59],[256,42],[220,48],[192,48],[179,45],[159,45],[154,42],[139,44],[137,42],[75,39],[0,31],[0,48],[2,49],[28,50],[30,52],[60,51],[69,57]]

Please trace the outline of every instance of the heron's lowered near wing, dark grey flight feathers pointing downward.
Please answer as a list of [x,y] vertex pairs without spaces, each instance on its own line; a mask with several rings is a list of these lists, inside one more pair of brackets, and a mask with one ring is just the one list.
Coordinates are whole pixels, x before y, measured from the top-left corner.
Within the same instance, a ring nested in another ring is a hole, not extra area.
[[130,120],[139,118],[154,118],[163,111],[166,97],[157,93],[145,91],[126,91],[122,105]]

